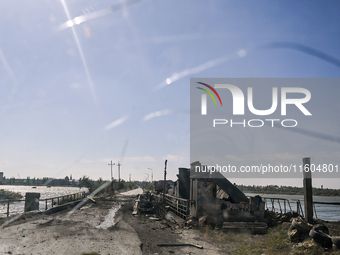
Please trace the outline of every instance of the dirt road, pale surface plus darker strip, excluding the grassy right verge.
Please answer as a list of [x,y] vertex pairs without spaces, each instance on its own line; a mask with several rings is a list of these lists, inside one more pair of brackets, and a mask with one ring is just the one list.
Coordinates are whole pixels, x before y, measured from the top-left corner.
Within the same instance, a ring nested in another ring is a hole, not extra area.
[[[0,254],[225,254],[199,231],[167,220],[132,216],[132,199],[142,189],[88,202],[71,215],[26,215],[0,229]],[[0,225],[2,224],[0,220]],[[204,246],[159,247],[157,243]]]

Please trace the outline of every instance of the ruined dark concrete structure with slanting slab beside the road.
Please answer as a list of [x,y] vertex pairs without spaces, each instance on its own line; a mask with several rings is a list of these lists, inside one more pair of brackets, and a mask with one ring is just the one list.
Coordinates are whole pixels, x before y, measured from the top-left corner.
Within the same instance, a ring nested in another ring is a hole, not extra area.
[[199,173],[197,162],[191,168],[179,168],[175,196],[189,199],[189,214],[200,219],[206,216],[214,225],[223,222],[251,222],[264,218],[265,202],[260,196],[247,198],[236,185],[220,173]]

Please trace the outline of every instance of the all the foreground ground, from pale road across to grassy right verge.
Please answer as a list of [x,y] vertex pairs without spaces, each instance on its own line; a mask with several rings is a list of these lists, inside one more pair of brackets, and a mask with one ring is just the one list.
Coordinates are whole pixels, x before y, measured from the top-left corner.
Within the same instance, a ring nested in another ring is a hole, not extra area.
[[[135,193],[96,199],[96,204],[88,202],[71,215],[70,210],[26,213],[6,226],[8,219],[0,219],[0,254],[340,254],[310,241],[291,243],[289,223],[270,228],[267,235],[249,235],[208,226],[193,229],[170,212],[160,220],[133,216]],[[340,236],[339,222],[324,223],[332,236]],[[197,244],[203,249],[160,243]]]

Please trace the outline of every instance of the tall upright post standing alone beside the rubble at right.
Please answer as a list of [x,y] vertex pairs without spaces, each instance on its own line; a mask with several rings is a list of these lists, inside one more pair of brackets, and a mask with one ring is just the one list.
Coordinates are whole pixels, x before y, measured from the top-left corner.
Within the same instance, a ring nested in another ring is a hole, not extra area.
[[305,200],[305,220],[313,223],[313,190],[310,158],[303,159],[303,190]]

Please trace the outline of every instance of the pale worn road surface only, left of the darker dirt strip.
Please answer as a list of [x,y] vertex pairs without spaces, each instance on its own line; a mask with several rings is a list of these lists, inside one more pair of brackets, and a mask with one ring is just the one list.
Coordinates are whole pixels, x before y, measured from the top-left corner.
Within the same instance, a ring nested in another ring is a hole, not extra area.
[[19,219],[0,230],[0,254],[142,254],[136,231],[114,217],[129,195],[140,192],[88,203],[69,217],[64,211]]

